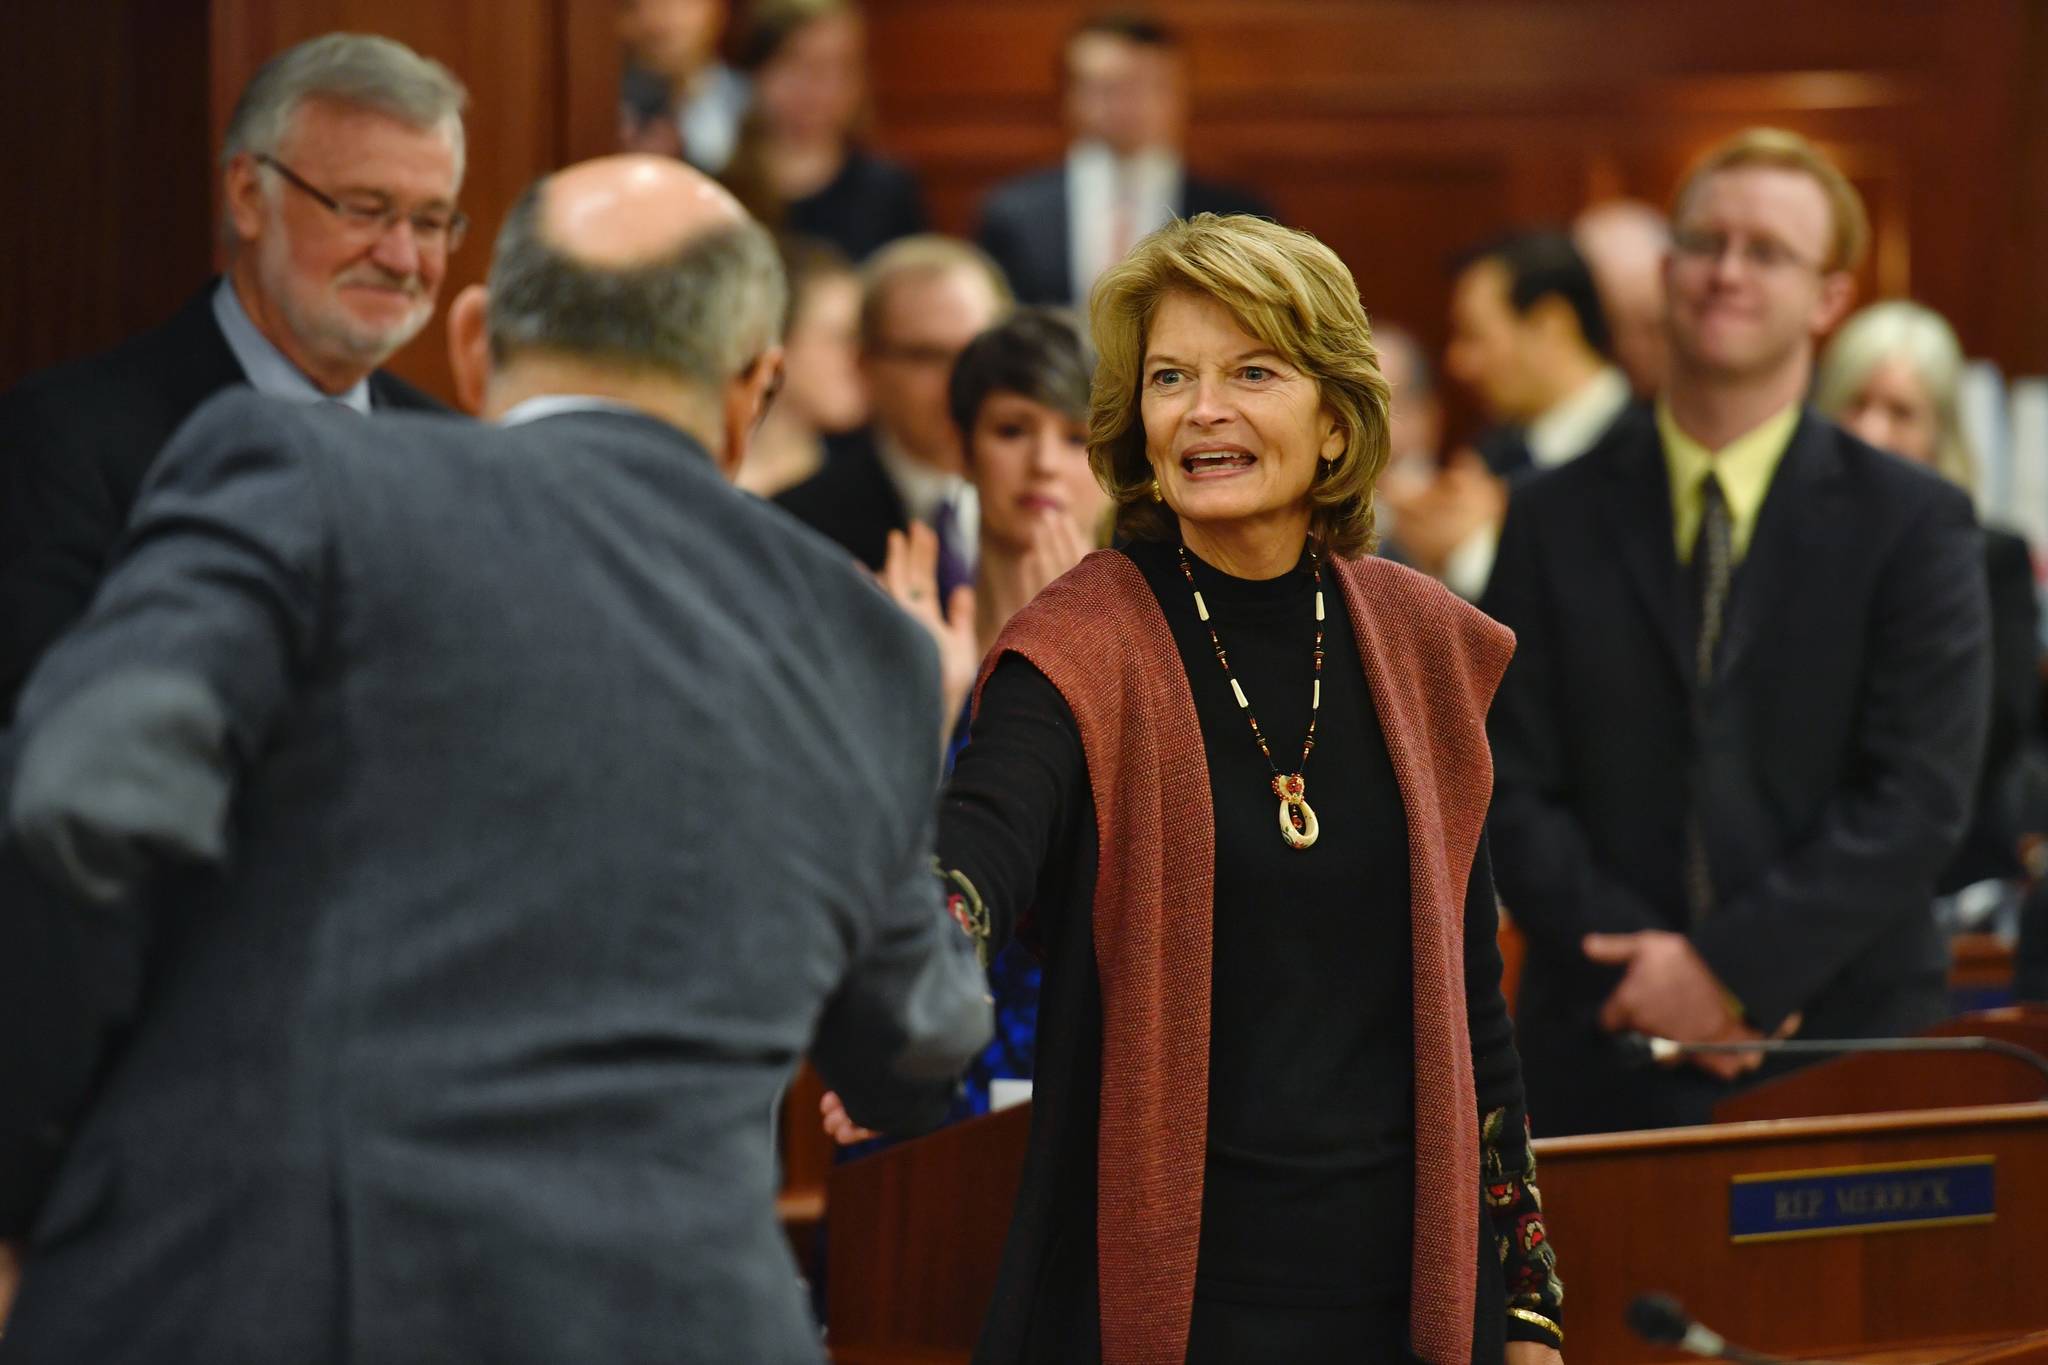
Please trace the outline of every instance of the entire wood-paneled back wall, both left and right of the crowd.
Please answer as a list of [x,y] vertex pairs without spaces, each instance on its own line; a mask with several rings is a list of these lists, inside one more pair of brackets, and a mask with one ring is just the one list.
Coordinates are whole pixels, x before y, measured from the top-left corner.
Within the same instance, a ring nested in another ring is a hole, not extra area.
[[[477,278],[535,174],[604,151],[616,117],[610,0],[12,0],[20,113],[0,227],[0,383],[156,321],[203,276],[211,164],[262,57],[334,27],[391,33],[475,96],[446,293]],[[1059,156],[1055,63],[1083,0],[868,0],[877,141],[967,231],[995,180]],[[1423,280],[1456,246],[1575,201],[1667,196],[1686,160],[1753,121],[1851,160],[1874,199],[1872,289],[1911,289],[1972,352],[2048,370],[2044,0],[1157,0],[1188,35],[1190,162],[1245,180],[1393,276],[1382,311],[1425,336]],[[1430,166],[1442,196],[1432,194]],[[1317,164],[1309,164],[1315,160]],[[1489,166],[1485,194],[1475,166]],[[1386,174],[1386,186],[1364,184]],[[57,205],[35,209],[31,205]],[[1389,215],[1401,215],[1399,223]],[[1395,272],[1389,252],[1407,260]],[[444,295],[446,297],[446,295]],[[399,368],[444,381],[440,323]]]

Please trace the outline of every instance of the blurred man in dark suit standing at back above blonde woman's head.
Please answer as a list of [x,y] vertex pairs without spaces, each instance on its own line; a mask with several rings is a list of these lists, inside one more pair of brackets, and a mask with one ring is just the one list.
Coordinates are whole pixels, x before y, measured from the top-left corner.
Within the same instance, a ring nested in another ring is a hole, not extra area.
[[1272,209],[1182,164],[1188,72],[1180,37],[1120,10],[1081,23],[1061,55],[1073,143],[1059,166],[989,190],[979,241],[1020,303],[1085,303],[1096,276],[1174,217]]

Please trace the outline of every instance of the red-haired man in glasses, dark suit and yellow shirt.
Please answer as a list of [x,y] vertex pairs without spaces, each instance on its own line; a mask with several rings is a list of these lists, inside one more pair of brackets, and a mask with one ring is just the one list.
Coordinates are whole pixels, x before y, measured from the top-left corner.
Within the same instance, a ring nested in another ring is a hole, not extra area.
[[1520,485],[1485,608],[1495,866],[1530,939],[1538,1132],[1708,1121],[1757,1054],[1683,1042],[1907,1033],[1944,1009],[1929,900],[1989,704],[1964,493],[1804,409],[1868,229],[1810,143],[1757,129],[1675,201],[1671,377]]

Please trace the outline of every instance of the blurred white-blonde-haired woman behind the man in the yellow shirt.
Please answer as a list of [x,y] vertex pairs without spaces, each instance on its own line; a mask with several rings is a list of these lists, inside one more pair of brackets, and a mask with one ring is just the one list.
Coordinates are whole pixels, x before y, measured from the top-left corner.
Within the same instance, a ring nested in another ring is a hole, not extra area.
[[[1976,493],[1976,460],[1962,430],[1962,346],[1933,309],[1872,303],[1841,325],[1815,379],[1815,407],[1880,450],[1925,465]],[[1985,528],[1991,583],[1991,735],[1976,819],[1935,890],[2021,876],[2019,757],[2040,714],[2040,606],[2034,559],[2019,536]]]

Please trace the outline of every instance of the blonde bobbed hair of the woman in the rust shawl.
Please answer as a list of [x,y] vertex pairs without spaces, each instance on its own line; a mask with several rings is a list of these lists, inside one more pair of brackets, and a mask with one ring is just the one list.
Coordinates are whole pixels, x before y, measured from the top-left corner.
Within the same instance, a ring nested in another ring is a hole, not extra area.
[[1315,381],[1343,430],[1343,452],[1309,487],[1309,534],[1325,555],[1376,544],[1372,485],[1386,467],[1386,379],[1358,284],[1337,254],[1305,231],[1249,215],[1198,213],[1139,241],[1087,301],[1096,338],[1087,460],[1116,505],[1116,530],[1176,540],[1174,512],[1153,499],[1139,389],[1145,340],[1171,293],[1214,299],[1237,325]]

